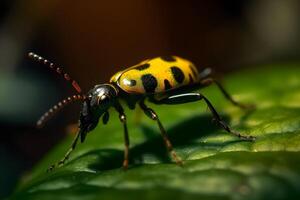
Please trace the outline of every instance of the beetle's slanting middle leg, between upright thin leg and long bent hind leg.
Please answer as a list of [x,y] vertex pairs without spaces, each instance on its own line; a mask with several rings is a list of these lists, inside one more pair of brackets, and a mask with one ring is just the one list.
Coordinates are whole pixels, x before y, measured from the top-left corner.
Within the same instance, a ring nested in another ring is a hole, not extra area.
[[160,122],[160,120],[159,120],[157,114],[156,114],[151,108],[148,108],[148,107],[145,105],[144,101],[141,101],[141,102],[139,103],[139,105],[140,105],[141,109],[144,111],[144,113],[145,113],[150,119],[152,119],[152,120],[154,120],[154,121],[157,122],[157,125],[158,125],[158,127],[159,127],[159,129],[160,129],[160,133],[161,133],[161,135],[162,135],[162,137],[163,137],[163,140],[164,140],[164,142],[165,142],[165,145],[166,145],[168,151],[169,151],[170,154],[172,155],[172,157],[173,157],[173,159],[175,160],[175,162],[176,162],[178,165],[182,165],[182,164],[183,164],[183,163],[182,163],[182,160],[181,160],[181,158],[180,158],[179,156],[177,156],[176,152],[174,151],[173,145],[172,145],[171,141],[169,140],[169,137],[168,137],[168,135],[167,135],[167,133],[166,133],[164,127],[162,126],[162,124],[161,124],[161,122]]

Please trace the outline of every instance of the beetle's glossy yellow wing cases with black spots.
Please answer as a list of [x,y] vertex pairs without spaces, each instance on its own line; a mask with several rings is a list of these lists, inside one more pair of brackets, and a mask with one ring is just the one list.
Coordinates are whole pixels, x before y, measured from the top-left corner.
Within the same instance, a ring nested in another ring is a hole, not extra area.
[[176,56],[164,56],[118,72],[111,82],[127,93],[153,94],[192,84],[198,79],[199,73],[193,63]]

